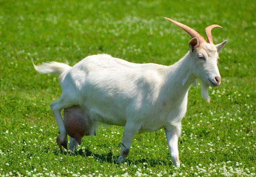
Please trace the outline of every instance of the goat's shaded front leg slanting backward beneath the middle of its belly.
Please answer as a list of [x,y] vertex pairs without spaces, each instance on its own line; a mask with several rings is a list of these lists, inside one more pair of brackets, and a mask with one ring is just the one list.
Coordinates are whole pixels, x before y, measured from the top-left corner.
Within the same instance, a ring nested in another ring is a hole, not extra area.
[[121,144],[121,154],[117,160],[117,163],[121,163],[126,159],[131,148],[131,142],[134,134],[139,130],[138,126],[134,123],[126,123],[125,130],[123,132],[122,144]]

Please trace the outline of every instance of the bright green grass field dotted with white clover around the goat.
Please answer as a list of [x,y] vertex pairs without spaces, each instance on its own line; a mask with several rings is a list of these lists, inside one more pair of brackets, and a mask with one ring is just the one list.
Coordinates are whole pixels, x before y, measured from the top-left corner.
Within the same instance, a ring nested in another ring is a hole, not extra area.
[[[254,176],[255,10],[253,0],[0,0],[0,176]],[[191,37],[163,17],[204,37],[205,27],[219,24],[214,42],[228,40],[218,62],[221,86],[209,89],[211,103],[200,87],[189,90],[181,167],[172,166],[163,130],[136,134],[120,165],[123,128],[117,126],[99,126],[76,154],[61,154],[49,107],[61,94],[58,78],[38,74],[30,59],[72,66],[108,53],[134,63],[173,64],[189,50]]]

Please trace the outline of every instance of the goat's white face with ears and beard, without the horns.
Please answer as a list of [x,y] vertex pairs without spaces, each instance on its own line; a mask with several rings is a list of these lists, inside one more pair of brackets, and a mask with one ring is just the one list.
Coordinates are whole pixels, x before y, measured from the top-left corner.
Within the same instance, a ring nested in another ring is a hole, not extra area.
[[[202,83],[202,96],[209,102],[207,88],[209,86],[219,86],[221,83],[221,75],[218,70],[218,52],[225,46],[227,40],[214,45],[212,43],[200,43],[195,37],[189,42],[190,55],[192,64],[190,65],[192,74],[198,77]],[[204,92],[204,93],[203,93]]]

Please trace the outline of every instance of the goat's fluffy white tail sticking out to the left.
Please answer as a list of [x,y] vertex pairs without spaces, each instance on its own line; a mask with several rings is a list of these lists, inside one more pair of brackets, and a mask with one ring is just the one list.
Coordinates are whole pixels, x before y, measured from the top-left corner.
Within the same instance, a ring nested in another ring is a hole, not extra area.
[[65,71],[72,68],[71,66],[68,66],[65,63],[58,63],[55,61],[48,62],[48,63],[42,63],[41,65],[38,65],[38,66],[35,66],[33,60],[32,60],[32,63],[33,63],[35,70],[38,71],[40,74],[57,73],[59,77]]

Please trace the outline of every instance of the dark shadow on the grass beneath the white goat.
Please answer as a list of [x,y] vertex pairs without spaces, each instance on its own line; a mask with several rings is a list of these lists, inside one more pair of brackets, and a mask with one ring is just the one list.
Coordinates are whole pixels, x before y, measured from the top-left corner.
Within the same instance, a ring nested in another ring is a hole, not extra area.
[[[56,153],[58,153],[58,152],[56,152]],[[85,148],[85,149],[76,150],[75,152],[63,151],[62,154],[70,155],[70,156],[92,157],[92,158],[98,160],[99,163],[107,162],[107,163],[119,164],[119,163],[117,163],[117,159],[119,158],[119,156],[114,155],[112,152],[97,154],[97,153],[93,153],[92,151],[90,151],[90,149]],[[134,161],[134,160],[129,160],[129,157],[128,157],[128,159],[126,159],[125,162],[128,164],[147,163],[147,164],[150,164],[150,166],[159,166],[159,165],[172,166],[173,165],[172,162],[170,162],[170,161],[157,160],[157,159],[147,160],[145,158],[141,158],[140,160]]]

